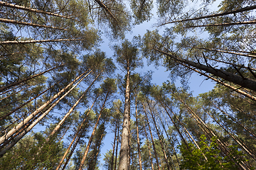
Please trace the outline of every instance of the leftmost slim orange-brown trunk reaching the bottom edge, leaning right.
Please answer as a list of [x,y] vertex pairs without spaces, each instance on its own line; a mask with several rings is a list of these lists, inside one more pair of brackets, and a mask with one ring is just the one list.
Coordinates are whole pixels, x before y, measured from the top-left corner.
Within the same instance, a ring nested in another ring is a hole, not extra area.
[[[97,101],[97,97],[95,98],[95,101],[92,103],[92,106],[95,104],[96,101]],[[81,134],[82,134],[82,132],[81,132],[82,126],[84,125],[84,123],[85,123],[85,121],[86,121],[86,119],[87,119],[87,116],[90,114],[90,111],[92,110],[92,106],[90,107],[89,111],[87,112],[87,115],[85,115],[85,118],[82,120],[82,123],[81,123],[81,125],[79,126],[78,131],[75,133],[75,136],[73,137],[73,140],[70,142],[70,145],[68,146],[68,149],[66,149],[66,151],[65,151],[65,153],[64,153],[64,155],[63,155],[63,157],[60,159],[60,163],[58,164],[56,170],[60,169],[61,164],[63,164],[63,161],[64,161],[65,157],[67,156],[67,154],[68,154],[68,152],[69,152],[71,146],[73,145],[73,142],[75,141],[75,138],[78,136],[78,138],[77,138],[77,140],[76,140],[76,142],[75,142],[75,146],[77,145],[78,141],[80,140],[80,136],[81,136]],[[70,153],[70,154],[71,154],[71,153]],[[67,161],[68,161],[68,159],[67,159]],[[66,161],[66,162],[67,162],[67,161]],[[65,166],[64,166],[64,167],[65,167]]]

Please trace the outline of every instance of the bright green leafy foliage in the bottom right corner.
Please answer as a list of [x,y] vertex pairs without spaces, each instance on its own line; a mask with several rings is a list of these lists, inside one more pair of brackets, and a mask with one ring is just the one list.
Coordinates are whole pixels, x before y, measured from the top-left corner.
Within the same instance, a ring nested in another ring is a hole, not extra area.
[[188,146],[182,144],[180,146],[183,157],[181,169],[240,169],[238,164],[247,161],[244,158],[244,154],[235,145],[230,145],[228,147],[230,150],[229,154],[223,157],[218,148],[217,138],[212,137],[211,140],[212,142],[208,142],[205,135],[201,135],[201,142],[199,144],[201,149],[198,149],[192,143],[188,143]]

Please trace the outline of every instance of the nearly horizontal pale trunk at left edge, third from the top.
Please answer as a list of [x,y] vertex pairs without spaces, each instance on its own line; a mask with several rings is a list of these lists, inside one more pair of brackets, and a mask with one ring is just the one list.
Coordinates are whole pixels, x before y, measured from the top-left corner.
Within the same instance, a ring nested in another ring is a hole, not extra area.
[[62,41],[80,41],[85,39],[58,39],[58,40],[14,40],[14,41],[0,41],[0,45],[11,44],[28,44],[28,43],[42,43],[42,42],[62,42]]

